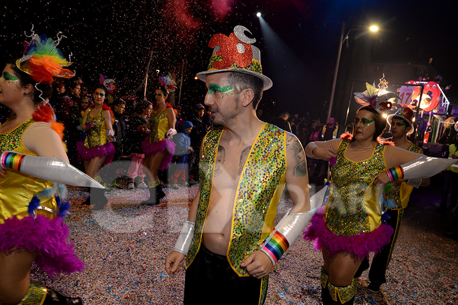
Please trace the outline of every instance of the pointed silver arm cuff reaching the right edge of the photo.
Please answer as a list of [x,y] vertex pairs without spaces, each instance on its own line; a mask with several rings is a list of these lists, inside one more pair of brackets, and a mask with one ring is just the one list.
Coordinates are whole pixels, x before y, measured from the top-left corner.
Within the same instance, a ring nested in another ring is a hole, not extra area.
[[402,164],[404,179],[427,178],[440,173],[455,163],[455,159],[444,159],[422,156],[418,159]]

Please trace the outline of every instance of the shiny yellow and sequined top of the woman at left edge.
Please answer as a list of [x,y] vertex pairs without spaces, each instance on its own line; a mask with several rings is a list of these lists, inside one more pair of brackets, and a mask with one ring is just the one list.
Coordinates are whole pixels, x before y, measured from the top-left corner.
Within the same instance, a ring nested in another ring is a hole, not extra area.
[[[51,128],[49,123],[35,123],[33,119],[28,119],[13,131],[0,134],[0,154],[7,150],[16,151],[17,153],[37,156],[32,151],[24,147],[22,136],[29,128],[34,128],[34,124],[46,124]],[[28,216],[27,207],[32,198],[40,192],[53,187],[53,182],[39,179],[36,177],[24,175],[22,173],[8,170],[5,178],[0,179],[0,224],[6,219],[17,216],[22,219]],[[47,198],[40,198],[40,205],[57,210],[57,204],[52,195]],[[49,219],[54,218],[54,214],[45,210],[36,210],[37,214],[46,216]]]

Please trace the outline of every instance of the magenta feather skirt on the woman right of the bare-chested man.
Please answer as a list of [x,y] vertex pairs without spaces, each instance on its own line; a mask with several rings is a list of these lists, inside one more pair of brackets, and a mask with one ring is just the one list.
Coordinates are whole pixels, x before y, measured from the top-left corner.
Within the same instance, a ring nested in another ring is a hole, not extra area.
[[329,256],[344,251],[355,254],[358,259],[369,258],[370,252],[376,254],[390,242],[394,230],[387,224],[380,225],[369,233],[352,236],[336,235],[329,231],[324,220],[324,207],[320,208],[310,220],[310,226],[304,231],[304,239],[314,242],[314,250],[325,247]]

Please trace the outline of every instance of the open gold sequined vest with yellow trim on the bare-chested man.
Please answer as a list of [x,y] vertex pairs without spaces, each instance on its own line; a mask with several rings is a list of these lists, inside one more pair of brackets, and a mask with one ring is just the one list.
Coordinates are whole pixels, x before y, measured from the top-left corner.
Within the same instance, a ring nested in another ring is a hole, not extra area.
[[[204,138],[200,158],[201,197],[197,206],[194,235],[186,257],[188,267],[197,254],[211,201],[212,178],[216,151],[223,130],[210,131]],[[240,267],[273,230],[277,204],[284,189],[286,171],[286,133],[278,127],[264,124],[251,146],[234,202],[231,240],[227,260],[237,274],[249,276]]]

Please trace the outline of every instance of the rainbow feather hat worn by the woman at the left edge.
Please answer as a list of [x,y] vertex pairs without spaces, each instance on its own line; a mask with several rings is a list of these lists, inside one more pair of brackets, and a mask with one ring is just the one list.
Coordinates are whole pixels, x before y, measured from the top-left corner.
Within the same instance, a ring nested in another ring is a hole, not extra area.
[[[38,36],[33,32],[32,35],[27,36],[32,38],[31,42],[24,41],[24,54],[21,58],[16,60],[16,66],[23,72],[29,74],[33,80],[50,84],[54,81],[54,76],[72,78],[75,72],[63,67],[71,65],[62,54],[62,51],[57,48],[62,38],[62,32],[59,32],[57,40],[53,40],[43,34]],[[71,54],[70,54],[71,56]]]

